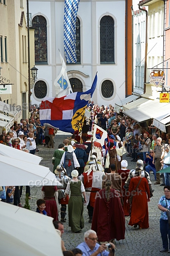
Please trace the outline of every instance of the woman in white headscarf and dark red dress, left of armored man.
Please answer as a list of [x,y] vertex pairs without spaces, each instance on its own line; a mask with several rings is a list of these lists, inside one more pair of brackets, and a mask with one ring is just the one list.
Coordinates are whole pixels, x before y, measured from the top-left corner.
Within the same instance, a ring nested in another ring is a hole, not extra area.
[[127,169],[127,160],[122,160],[121,167],[122,168],[120,170],[118,170],[117,173],[122,178],[122,190],[121,191],[122,191],[122,198],[123,198],[123,202],[124,202],[124,205],[122,207],[123,207],[125,216],[129,216],[130,205],[126,203],[127,197],[126,197],[126,190],[124,188],[125,181],[127,180],[128,174],[130,172],[130,170]]

